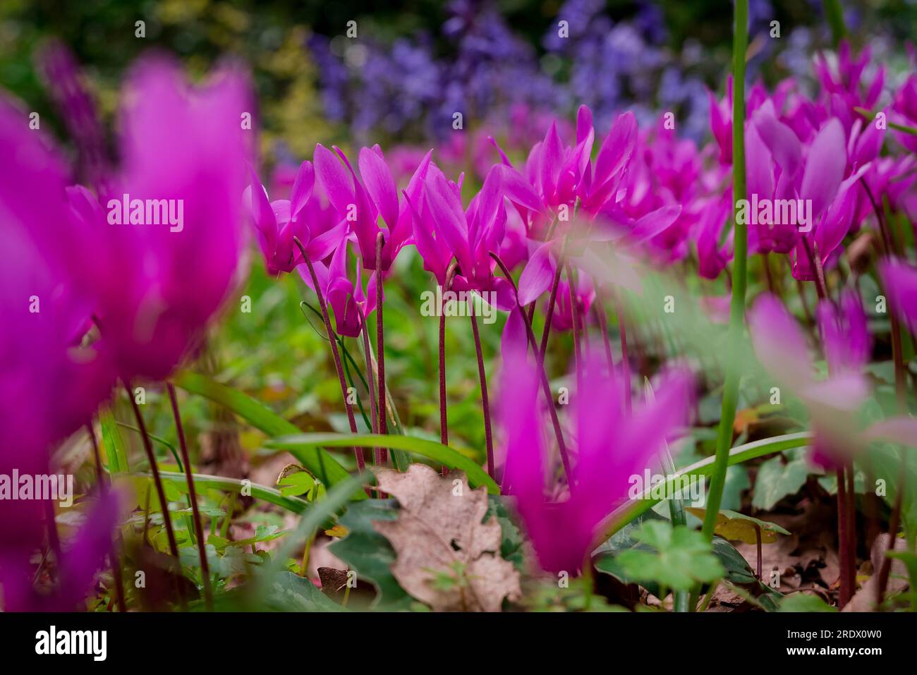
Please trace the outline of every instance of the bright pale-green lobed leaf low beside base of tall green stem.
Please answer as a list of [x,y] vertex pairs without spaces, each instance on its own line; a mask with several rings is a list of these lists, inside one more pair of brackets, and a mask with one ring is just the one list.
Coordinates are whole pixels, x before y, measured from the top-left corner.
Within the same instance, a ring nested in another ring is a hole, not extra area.
[[617,560],[628,577],[641,583],[656,581],[665,588],[688,591],[695,583],[716,581],[725,574],[697,530],[651,520],[636,530],[635,537],[655,550],[629,548]]

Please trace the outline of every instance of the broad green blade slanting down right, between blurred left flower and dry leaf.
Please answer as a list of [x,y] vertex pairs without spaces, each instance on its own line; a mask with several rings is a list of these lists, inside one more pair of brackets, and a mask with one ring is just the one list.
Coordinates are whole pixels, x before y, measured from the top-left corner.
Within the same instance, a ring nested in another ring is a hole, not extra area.
[[[226,384],[214,382],[204,377],[204,375],[192,371],[182,371],[173,378],[173,382],[186,392],[196,393],[217,404],[225,405],[251,426],[260,429],[269,436],[290,436],[300,433],[300,429],[297,426],[287,422],[266,405],[260,404],[251,398],[247,393],[239,392],[238,389],[228,387]],[[337,462],[337,459],[322,448],[295,448],[290,449],[290,452],[293,457],[328,487],[337,485],[341,481],[347,481],[350,478],[348,470],[342,467]],[[366,492],[362,490],[358,490],[351,495],[351,499],[354,500],[366,498]]]

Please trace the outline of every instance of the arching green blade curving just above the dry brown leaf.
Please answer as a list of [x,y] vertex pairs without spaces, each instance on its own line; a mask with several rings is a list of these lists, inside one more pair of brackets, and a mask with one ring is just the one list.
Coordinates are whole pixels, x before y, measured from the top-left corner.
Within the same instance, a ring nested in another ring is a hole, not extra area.
[[465,471],[471,488],[481,485],[487,492],[499,494],[500,486],[478,466],[474,460],[465,457],[458,451],[436,441],[413,436],[392,436],[384,434],[297,434],[272,438],[265,445],[268,448],[296,450],[302,452],[308,448],[392,448],[414,452],[427,459],[445,464],[451,469]]

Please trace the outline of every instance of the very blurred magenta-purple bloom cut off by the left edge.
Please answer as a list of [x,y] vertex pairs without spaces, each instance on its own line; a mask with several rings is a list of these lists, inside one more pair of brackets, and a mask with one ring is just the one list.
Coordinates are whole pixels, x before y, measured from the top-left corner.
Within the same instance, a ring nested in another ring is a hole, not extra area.
[[[47,475],[51,449],[89,422],[116,371],[105,345],[83,344],[95,298],[73,251],[94,235],[70,217],[62,153],[30,130],[27,113],[5,98],[0,155],[6,158],[0,164],[0,475]],[[0,499],[6,611],[79,609],[110,546],[115,510],[102,503],[65,542],[56,588],[39,594],[33,556],[44,544],[46,506],[37,498]]]

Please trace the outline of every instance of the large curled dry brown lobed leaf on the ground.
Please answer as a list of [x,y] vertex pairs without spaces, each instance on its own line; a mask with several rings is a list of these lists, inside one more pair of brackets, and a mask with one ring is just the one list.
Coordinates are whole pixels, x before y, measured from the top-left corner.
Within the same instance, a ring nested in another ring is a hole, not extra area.
[[471,490],[460,471],[440,477],[423,464],[376,475],[401,506],[397,520],[373,526],[395,549],[392,574],[406,592],[439,612],[499,612],[503,598],[521,597],[519,572],[500,557],[500,524],[481,522],[485,488]]

